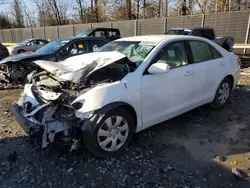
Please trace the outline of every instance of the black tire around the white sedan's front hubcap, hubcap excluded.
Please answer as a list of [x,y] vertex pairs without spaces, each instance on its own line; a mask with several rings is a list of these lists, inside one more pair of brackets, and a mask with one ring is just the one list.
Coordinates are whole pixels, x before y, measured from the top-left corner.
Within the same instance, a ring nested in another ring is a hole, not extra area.
[[[113,117],[113,116],[120,116],[126,120],[126,122],[128,124],[128,134],[127,134],[128,136],[127,136],[126,141],[124,142],[124,144],[120,148],[118,148],[115,151],[106,151],[103,148],[101,148],[101,146],[99,145],[97,135],[98,135],[98,130],[100,129],[101,126],[103,126],[105,120],[110,118],[110,117]],[[94,122],[94,123],[97,123],[97,122]],[[108,111],[101,118],[99,123],[97,123],[97,126],[96,126],[95,130],[93,131],[93,133],[87,133],[87,134],[85,133],[84,134],[84,136],[83,136],[84,145],[96,157],[106,158],[109,156],[121,154],[124,151],[124,149],[126,147],[128,147],[128,145],[132,142],[133,133],[134,133],[133,123],[134,123],[134,119],[133,119],[132,115],[127,110],[125,110],[124,108],[112,109],[112,110]]]

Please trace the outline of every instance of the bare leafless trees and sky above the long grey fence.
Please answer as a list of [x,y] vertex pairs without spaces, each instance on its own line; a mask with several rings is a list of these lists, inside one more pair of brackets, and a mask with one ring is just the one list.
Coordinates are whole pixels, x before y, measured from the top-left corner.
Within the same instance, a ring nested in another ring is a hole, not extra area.
[[242,11],[248,0],[0,0],[0,28],[44,27]]

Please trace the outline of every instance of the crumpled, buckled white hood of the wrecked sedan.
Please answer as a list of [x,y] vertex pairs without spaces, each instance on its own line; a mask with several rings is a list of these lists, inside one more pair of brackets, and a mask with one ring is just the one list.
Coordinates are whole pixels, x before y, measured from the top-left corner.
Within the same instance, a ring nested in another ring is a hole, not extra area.
[[64,61],[56,63],[45,60],[38,60],[34,63],[42,69],[50,72],[59,80],[72,81],[76,83],[83,76],[84,69],[89,69],[87,75],[90,75],[94,71],[125,57],[126,56],[124,54],[117,51],[94,52],[70,57]]

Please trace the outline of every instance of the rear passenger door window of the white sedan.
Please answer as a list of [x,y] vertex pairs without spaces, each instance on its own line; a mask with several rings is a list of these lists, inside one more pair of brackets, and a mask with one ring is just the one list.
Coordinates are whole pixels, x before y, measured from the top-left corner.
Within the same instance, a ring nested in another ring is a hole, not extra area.
[[209,61],[213,59],[210,45],[203,41],[189,41],[194,63]]

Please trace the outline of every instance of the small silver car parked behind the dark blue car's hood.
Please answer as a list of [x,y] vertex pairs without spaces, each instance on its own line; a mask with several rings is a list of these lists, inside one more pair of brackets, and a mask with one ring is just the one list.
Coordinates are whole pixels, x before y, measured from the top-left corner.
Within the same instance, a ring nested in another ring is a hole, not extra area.
[[10,55],[19,54],[23,52],[36,51],[47,43],[49,42],[44,39],[27,39],[20,42],[16,46],[8,46],[7,49]]

